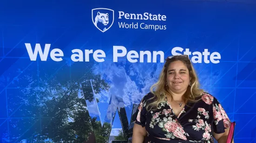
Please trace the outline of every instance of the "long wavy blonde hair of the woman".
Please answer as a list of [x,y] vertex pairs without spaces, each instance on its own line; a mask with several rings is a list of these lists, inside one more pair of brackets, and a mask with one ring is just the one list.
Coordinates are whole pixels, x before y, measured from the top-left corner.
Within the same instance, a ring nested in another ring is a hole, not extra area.
[[166,59],[166,62],[162,68],[162,72],[159,76],[158,81],[150,87],[150,92],[154,94],[154,97],[150,99],[154,99],[154,100],[153,102],[150,102],[149,104],[147,104],[146,106],[147,110],[149,107],[150,107],[149,110],[156,110],[156,107],[158,107],[158,105],[165,100],[166,94],[169,94],[171,96],[171,99],[173,99],[171,93],[168,91],[168,86],[165,86],[165,83],[166,83],[168,66],[170,63],[175,61],[183,62],[189,69],[191,86],[189,85],[189,87],[187,88],[187,91],[182,96],[185,103],[187,104],[188,102],[197,102],[201,99],[200,97],[204,91],[199,88],[199,81],[195,73],[195,69],[189,60],[189,57],[187,55],[169,56]]

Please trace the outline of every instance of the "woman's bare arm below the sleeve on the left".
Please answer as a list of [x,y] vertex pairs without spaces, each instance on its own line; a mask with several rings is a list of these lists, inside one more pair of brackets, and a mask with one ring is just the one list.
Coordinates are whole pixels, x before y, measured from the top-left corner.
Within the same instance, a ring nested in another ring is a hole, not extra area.
[[147,135],[145,127],[134,124],[132,143],[143,143],[144,137]]

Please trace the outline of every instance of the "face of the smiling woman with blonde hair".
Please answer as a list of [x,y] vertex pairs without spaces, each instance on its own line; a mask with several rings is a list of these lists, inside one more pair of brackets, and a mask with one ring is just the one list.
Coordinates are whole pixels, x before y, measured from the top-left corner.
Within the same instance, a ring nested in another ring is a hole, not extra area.
[[183,62],[171,62],[166,74],[169,90],[174,93],[182,93],[187,90],[190,82],[189,69]]

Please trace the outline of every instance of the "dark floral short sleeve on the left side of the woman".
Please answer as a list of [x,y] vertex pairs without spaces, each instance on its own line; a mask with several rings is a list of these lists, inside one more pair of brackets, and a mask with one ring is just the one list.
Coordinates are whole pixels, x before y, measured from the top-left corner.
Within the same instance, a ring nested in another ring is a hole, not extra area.
[[135,123],[140,124],[142,127],[144,127],[146,124],[147,116],[145,96],[141,99],[140,105],[138,106],[134,115]]

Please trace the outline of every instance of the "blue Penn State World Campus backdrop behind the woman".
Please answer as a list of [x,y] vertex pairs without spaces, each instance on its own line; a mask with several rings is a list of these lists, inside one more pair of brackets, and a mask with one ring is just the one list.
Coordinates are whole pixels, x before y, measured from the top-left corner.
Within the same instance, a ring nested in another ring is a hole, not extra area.
[[186,49],[201,87],[236,121],[235,143],[256,143],[253,0],[9,0],[0,18],[1,143],[130,137],[163,59]]

